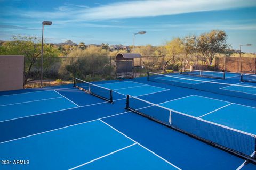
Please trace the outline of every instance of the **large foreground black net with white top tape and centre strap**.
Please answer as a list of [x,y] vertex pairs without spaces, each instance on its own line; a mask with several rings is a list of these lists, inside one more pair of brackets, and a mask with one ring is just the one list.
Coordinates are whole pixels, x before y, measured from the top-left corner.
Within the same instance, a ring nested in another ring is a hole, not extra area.
[[127,95],[126,109],[256,163],[256,136]]

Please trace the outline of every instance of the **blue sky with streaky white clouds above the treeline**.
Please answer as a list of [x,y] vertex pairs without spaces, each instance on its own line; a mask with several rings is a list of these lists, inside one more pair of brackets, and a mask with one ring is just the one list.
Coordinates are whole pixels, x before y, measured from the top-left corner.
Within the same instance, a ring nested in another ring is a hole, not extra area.
[[175,37],[225,30],[233,49],[256,53],[255,0],[0,0],[0,40],[12,35],[42,36],[60,43],[163,45]]

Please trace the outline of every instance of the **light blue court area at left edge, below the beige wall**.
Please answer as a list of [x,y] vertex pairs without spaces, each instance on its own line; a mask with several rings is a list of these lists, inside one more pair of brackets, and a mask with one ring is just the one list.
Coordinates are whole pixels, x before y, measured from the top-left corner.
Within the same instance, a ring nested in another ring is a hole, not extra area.
[[8,100],[2,101],[3,98],[1,99],[1,104],[5,105],[0,106],[0,122],[79,107],[55,91],[31,92],[2,97],[8,98]]

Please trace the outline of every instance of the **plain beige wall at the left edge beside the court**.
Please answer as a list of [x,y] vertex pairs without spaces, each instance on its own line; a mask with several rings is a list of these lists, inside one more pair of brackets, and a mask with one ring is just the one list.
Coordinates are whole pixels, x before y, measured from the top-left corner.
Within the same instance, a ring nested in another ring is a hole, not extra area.
[[24,56],[0,55],[0,91],[23,89]]

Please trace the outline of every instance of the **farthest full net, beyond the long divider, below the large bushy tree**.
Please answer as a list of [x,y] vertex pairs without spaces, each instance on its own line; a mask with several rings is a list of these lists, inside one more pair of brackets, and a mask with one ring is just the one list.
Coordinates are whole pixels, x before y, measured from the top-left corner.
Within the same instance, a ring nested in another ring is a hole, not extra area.
[[182,69],[180,74],[194,75],[206,78],[225,79],[225,72]]

